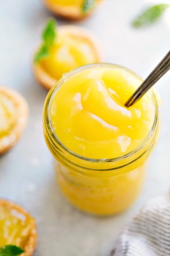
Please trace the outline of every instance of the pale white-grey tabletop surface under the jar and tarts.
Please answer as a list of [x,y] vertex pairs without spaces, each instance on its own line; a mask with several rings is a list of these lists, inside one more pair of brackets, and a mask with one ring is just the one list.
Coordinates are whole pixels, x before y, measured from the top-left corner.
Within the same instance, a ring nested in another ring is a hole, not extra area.
[[[105,0],[92,17],[72,23],[95,32],[104,45],[106,61],[146,77],[170,46],[168,13],[150,28],[135,30],[130,26],[138,11],[151,2],[156,1]],[[32,53],[50,15],[39,0],[0,0],[0,83],[20,91],[30,107],[24,136],[0,158],[0,197],[21,203],[36,217],[39,237],[35,256],[105,256],[139,207],[170,187],[170,74],[156,86],[163,98],[162,130],[143,194],[116,217],[82,214],[65,200],[55,182],[42,133],[46,91],[31,71]]]

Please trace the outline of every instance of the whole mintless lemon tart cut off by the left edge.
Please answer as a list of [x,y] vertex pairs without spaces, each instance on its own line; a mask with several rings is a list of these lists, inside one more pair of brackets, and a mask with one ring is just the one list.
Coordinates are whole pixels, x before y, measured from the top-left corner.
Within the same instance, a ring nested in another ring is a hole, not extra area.
[[6,86],[0,86],[0,154],[13,147],[23,133],[28,116],[26,100]]

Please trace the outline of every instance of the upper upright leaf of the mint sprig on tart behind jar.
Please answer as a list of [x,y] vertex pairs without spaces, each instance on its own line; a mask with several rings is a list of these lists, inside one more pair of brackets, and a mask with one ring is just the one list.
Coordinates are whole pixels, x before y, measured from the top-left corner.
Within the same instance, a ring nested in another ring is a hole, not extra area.
[[54,19],[50,19],[44,28],[42,38],[46,46],[50,47],[56,38],[56,21]]

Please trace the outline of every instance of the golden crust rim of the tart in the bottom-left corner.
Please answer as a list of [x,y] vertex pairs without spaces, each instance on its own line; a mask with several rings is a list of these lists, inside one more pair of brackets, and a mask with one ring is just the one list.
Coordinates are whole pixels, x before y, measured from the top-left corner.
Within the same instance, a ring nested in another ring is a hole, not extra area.
[[22,256],[31,256],[35,250],[35,247],[37,245],[37,227],[34,218],[29,214],[27,210],[25,210],[23,207],[18,205],[17,203],[11,202],[9,200],[1,199],[0,198],[0,206],[7,207],[8,209],[15,209],[24,214],[27,217],[31,217],[32,220],[32,228],[30,235],[27,239],[27,243],[24,246],[24,253],[22,253]]

